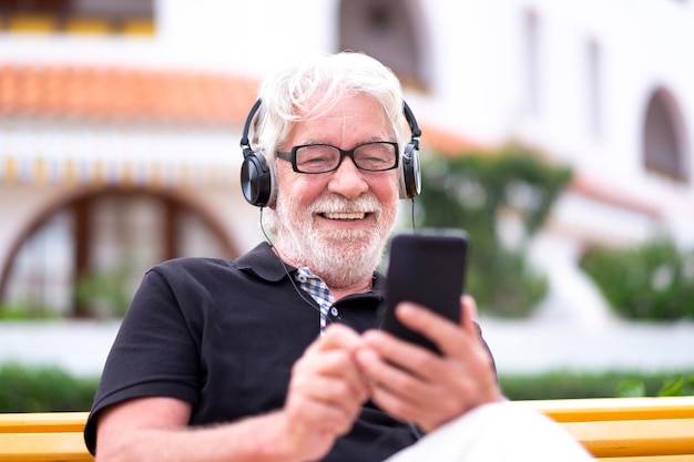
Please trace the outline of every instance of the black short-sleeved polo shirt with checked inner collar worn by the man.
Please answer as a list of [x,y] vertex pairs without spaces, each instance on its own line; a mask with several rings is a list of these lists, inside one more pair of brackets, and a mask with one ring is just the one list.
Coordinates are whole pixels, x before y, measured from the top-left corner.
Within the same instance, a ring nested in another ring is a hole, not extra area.
[[[191,425],[282,408],[292,366],[319,335],[318,305],[297,292],[287,270],[261,244],[235,261],[180,258],[147,271],[104,367],[84,430],[89,450],[99,412],[132,398],[188,401]],[[372,291],[335,304],[333,321],[377,328],[384,292],[377,274]],[[369,402],[324,460],[382,461],[414,442],[407,425]]]

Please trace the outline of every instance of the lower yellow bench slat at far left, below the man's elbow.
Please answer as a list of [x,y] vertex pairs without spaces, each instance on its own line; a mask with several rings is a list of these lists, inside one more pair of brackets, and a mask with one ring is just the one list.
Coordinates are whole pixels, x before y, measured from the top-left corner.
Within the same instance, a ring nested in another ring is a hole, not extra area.
[[2,462],[88,462],[82,432],[0,433]]

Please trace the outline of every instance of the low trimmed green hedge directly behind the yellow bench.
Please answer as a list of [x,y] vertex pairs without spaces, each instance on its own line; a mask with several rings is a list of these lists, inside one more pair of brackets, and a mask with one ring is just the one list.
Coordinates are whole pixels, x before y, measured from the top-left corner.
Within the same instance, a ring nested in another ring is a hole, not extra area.
[[[692,394],[694,371],[683,373],[555,371],[537,376],[502,374],[499,382],[504,396],[511,400],[611,398],[616,394]],[[680,383],[682,387],[677,388]],[[0,366],[0,412],[88,411],[96,390],[98,379],[73,377],[58,368],[31,368],[9,363]],[[663,390],[667,387],[670,391]],[[624,390],[626,392],[623,392]]]

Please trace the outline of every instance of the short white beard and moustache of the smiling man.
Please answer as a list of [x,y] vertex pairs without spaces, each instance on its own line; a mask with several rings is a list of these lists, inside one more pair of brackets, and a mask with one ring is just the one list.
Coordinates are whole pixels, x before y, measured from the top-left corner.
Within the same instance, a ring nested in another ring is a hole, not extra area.
[[[395,199],[397,201],[397,198]],[[344,288],[370,278],[380,263],[395,226],[397,204],[382,207],[375,196],[356,201],[324,194],[308,209],[277,197],[276,232],[283,256],[295,266],[307,266],[330,287]],[[314,214],[368,212],[376,226],[365,229],[317,228]]]

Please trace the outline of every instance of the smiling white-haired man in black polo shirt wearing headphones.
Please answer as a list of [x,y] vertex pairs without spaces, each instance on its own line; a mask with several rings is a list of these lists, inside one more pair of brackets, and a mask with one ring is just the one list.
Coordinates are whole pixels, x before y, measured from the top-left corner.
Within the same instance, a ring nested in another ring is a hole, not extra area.
[[418,186],[405,170],[418,135],[407,122],[398,80],[364,54],[264,83],[242,183],[273,237],[233,261],[147,271],[85,429],[99,461],[472,461],[504,442],[512,455],[529,450],[530,428],[558,435],[557,460],[586,456],[541,417],[512,418],[471,298],[460,326],[399,306],[440,356],[377,330],[376,267],[398,199]]

